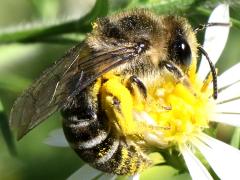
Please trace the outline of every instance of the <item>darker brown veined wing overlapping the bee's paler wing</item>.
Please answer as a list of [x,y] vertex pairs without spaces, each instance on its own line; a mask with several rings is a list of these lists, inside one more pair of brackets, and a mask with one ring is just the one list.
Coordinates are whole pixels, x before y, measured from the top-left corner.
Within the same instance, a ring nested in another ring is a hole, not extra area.
[[[67,93],[65,95],[67,97],[66,100],[71,101],[71,98],[76,96],[103,73],[120,64],[131,61],[136,55],[137,52],[134,46],[92,52],[90,57],[81,58],[81,60],[68,69],[59,82],[55,98],[62,96],[61,93]],[[65,89],[65,91],[61,89]]]

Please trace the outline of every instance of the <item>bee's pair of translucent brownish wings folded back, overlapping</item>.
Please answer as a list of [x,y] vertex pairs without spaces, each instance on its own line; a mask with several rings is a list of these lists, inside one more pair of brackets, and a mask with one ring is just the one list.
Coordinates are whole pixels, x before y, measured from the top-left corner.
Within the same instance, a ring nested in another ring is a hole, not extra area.
[[132,47],[94,51],[86,44],[71,49],[15,102],[10,125],[21,139],[97,77],[137,55]]

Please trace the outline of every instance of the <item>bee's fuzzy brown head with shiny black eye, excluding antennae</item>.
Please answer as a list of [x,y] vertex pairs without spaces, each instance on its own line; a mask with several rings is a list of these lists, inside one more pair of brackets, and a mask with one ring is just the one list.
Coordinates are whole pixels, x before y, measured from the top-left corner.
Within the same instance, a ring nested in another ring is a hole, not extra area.
[[165,60],[173,62],[185,71],[197,57],[198,44],[195,33],[182,17],[164,16],[162,24],[168,54]]

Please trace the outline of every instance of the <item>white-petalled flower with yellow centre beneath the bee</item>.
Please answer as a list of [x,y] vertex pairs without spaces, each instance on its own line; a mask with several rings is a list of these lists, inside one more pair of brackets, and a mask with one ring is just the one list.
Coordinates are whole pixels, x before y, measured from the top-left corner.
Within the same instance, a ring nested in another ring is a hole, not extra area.
[[[209,22],[229,22],[229,8],[221,4],[212,12]],[[229,27],[215,26],[206,30],[204,49],[210,59],[216,63],[227,41]],[[185,160],[192,179],[213,179],[205,167],[209,164],[220,179],[237,179],[240,177],[240,151],[234,147],[214,139],[205,133],[211,122],[240,126],[240,63],[236,64],[218,78],[219,96],[212,98],[211,76],[207,76],[209,67],[202,58],[197,71],[197,62],[193,62],[189,72],[188,81],[178,83],[174,78],[166,76],[166,83],[153,83],[148,87],[150,102],[139,102],[134,111],[134,119],[144,121],[151,126],[144,133],[144,139],[160,148],[174,147]],[[190,85],[189,85],[190,84]],[[156,98],[158,97],[158,98]],[[149,98],[148,98],[149,99]],[[159,103],[160,106],[156,106]],[[150,103],[150,105],[149,105]],[[152,105],[153,104],[153,105]],[[170,107],[170,110],[166,110]],[[52,144],[52,138],[47,140]],[[58,138],[57,138],[58,139]],[[59,139],[58,139],[59,141]],[[61,141],[55,145],[66,145]],[[199,156],[199,154],[201,154]],[[205,162],[203,163],[203,158]],[[107,175],[84,165],[69,179],[114,179],[116,176]],[[131,179],[139,179],[137,174]]]

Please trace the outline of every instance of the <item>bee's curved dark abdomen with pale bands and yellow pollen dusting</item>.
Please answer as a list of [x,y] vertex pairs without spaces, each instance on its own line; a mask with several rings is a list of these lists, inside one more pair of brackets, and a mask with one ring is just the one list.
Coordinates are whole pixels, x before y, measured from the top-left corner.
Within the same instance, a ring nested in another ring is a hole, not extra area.
[[91,87],[61,110],[65,136],[82,160],[104,172],[133,175],[149,166],[140,147],[120,135]]

